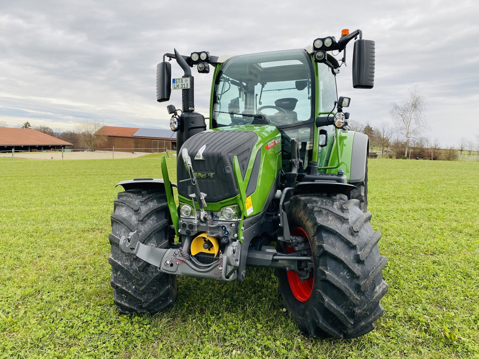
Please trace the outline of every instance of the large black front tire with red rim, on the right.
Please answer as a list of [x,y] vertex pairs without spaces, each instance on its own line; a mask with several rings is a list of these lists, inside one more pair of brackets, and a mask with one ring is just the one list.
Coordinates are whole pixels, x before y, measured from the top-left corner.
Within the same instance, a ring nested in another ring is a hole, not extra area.
[[286,211],[292,232],[298,235],[301,228],[308,236],[314,258],[309,297],[298,296],[286,271],[278,270],[284,306],[299,329],[320,338],[354,338],[373,330],[388,284],[382,278],[387,259],[377,247],[381,233],[371,227],[371,213],[340,194],[297,195]]

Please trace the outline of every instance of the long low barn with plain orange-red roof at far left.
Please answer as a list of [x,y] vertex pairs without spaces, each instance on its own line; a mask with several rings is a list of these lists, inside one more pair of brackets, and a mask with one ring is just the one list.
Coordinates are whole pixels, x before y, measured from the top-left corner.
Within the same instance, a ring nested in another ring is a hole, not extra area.
[[71,143],[33,128],[0,127],[0,151],[43,151],[70,148]]

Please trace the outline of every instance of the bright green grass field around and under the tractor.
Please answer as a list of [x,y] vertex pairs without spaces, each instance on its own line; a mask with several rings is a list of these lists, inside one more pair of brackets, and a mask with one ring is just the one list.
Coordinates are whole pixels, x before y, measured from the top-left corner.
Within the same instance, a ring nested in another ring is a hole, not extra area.
[[389,292],[376,330],[343,341],[298,333],[269,269],[242,283],[178,278],[174,309],[118,315],[114,185],[160,177],[158,157],[0,169],[0,358],[479,358],[479,163],[369,161]]

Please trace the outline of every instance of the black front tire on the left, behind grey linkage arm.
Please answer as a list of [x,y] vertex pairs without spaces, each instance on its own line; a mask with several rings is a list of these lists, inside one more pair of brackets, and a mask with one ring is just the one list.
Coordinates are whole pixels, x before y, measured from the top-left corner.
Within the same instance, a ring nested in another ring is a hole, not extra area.
[[164,192],[131,189],[118,193],[111,215],[109,235],[113,299],[121,314],[157,313],[173,307],[176,277],[118,247],[120,238],[138,231],[140,242],[157,248],[169,247],[170,213]]

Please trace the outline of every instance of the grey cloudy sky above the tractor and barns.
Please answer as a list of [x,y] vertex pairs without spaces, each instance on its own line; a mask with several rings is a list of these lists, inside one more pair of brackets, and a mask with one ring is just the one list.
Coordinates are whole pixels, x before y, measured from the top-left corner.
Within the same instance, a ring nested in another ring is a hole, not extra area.
[[[165,52],[239,55],[301,48],[316,37],[363,30],[376,41],[376,82],[339,94],[351,119],[389,120],[391,102],[417,86],[428,101],[427,135],[443,145],[479,133],[479,5],[475,1],[91,1],[0,0],[0,121],[73,129],[82,119],[168,127],[156,102]],[[182,71],[172,64],[173,77]],[[206,115],[211,75],[195,76]],[[171,103],[180,107],[180,91]]]

